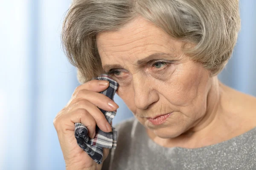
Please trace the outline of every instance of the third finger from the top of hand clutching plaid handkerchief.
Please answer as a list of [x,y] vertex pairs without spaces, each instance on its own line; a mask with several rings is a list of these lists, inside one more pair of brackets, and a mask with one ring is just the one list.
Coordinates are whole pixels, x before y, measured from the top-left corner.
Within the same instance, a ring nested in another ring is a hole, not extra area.
[[111,132],[112,128],[111,125],[108,123],[105,115],[100,111],[98,107],[96,107],[94,104],[90,103],[89,101],[83,99],[72,106],[70,106],[70,112],[73,112],[73,110],[76,109],[86,109],[87,112],[90,113],[90,115],[94,118],[96,121],[97,126],[99,127],[100,130],[104,132]]

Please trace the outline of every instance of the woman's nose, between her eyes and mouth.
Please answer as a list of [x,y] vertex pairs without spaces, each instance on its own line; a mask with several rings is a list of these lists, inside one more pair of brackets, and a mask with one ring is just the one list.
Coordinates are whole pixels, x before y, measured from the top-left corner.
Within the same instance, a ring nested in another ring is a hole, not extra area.
[[151,82],[145,75],[134,75],[134,103],[138,109],[147,109],[156,101],[159,96],[154,89],[154,83]]

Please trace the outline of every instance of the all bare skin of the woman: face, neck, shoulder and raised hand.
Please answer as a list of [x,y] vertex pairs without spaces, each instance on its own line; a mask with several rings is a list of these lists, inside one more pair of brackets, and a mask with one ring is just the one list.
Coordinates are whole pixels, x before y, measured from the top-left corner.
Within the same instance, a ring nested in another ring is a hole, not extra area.
[[[119,83],[116,93],[155,143],[164,147],[203,147],[256,127],[256,99],[221,84],[217,76],[212,77],[200,63],[182,53],[181,41],[153,23],[138,17],[118,32],[104,32],[96,40],[102,67],[106,72],[111,69],[110,76]],[[154,53],[158,54],[152,56]],[[79,147],[74,129],[75,123],[81,122],[90,138],[95,136],[96,125],[104,132],[110,131],[110,124],[99,110],[118,108],[99,93],[108,86],[108,82],[97,80],[78,86],[56,115],[53,123],[66,170],[102,169],[102,164],[96,164]],[[148,121],[170,112],[163,124]],[[109,150],[104,149],[103,161],[108,154]]]

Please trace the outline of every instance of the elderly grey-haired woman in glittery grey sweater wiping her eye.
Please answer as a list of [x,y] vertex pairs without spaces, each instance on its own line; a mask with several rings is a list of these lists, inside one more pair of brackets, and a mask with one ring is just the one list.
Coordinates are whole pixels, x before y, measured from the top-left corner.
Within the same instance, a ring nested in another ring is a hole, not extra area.
[[[256,98],[217,77],[239,29],[238,0],[75,0],[62,38],[81,85],[54,119],[67,170],[255,170]],[[74,130],[111,133],[102,73],[135,118],[98,164]]]

